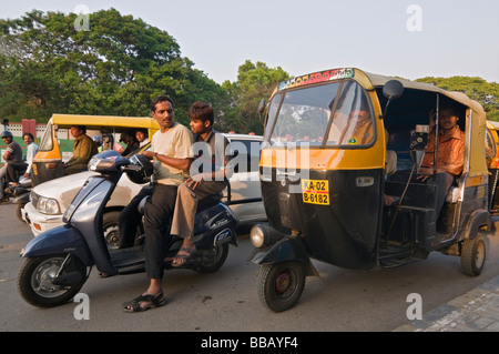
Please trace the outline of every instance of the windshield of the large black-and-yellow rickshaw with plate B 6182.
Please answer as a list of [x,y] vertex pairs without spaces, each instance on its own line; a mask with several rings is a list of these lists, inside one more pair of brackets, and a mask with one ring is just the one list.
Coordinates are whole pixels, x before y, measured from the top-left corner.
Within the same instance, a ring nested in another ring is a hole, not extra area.
[[374,141],[373,129],[365,90],[355,81],[334,82],[277,93],[268,109],[265,141],[361,148]]

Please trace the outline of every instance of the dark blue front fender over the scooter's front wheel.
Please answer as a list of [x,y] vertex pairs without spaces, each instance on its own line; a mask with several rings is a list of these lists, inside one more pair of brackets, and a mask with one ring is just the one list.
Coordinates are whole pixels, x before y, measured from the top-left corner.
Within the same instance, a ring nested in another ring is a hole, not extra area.
[[58,226],[35,236],[22,249],[21,256],[33,257],[59,253],[73,254],[85,266],[94,264],[83,236],[70,225]]

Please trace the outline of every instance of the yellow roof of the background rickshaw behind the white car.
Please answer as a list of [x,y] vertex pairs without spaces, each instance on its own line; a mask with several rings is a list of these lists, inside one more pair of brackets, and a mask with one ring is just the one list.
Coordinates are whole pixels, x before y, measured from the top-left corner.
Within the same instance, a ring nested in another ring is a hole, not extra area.
[[53,114],[51,122],[61,127],[85,125],[88,129],[95,127],[160,129],[157,122],[151,117]]

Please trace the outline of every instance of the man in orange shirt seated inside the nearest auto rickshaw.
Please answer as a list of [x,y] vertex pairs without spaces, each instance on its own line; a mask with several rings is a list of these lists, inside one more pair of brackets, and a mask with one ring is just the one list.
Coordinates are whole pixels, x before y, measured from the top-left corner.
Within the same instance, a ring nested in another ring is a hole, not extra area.
[[438,118],[438,151],[437,151],[437,174],[434,173],[434,151],[435,151],[435,111],[430,112],[430,134],[425,155],[421,161],[417,180],[426,182],[432,181],[437,184],[437,219],[444,206],[447,192],[452,185],[455,178],[462,173],[465,164],[465,132],[459,129],[458,112],[452,107],[446,107],[440,111]]

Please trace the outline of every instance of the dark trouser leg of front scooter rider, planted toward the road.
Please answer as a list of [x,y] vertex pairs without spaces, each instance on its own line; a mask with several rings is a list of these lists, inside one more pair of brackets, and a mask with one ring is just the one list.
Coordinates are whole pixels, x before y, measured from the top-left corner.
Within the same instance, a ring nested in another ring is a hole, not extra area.
[[145,274],[149,279],[163,279],[169,237],[165,230],[175,208],[176,190],[176,185],[155,184],[152,198],[144,208]]

